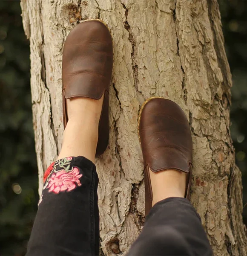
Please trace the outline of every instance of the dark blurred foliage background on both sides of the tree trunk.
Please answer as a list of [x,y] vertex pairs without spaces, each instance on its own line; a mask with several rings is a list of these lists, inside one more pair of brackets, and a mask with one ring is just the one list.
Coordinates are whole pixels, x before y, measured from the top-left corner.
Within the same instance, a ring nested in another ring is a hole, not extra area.
[[[219,1],[233,74],[231,134],[247,203],[247,1]],[[0,0],[0,255],[23,255],[37,211],[29,41],[20,2]],[[247,224],[247,206],[243,212]]]

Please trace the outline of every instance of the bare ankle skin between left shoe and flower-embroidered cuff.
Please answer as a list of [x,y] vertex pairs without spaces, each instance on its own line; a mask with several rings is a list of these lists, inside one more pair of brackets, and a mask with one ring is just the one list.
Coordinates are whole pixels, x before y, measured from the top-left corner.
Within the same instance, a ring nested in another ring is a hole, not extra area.
[[83,156],[95,163],[103,96],[99,100],[77,97],[66,103],[69,120],[58,159]]

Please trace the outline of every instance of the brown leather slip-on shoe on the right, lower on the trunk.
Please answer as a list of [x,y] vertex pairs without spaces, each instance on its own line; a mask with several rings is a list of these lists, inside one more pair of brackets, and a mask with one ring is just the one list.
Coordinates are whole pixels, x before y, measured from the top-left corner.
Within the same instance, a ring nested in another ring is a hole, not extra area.
[[189,198],[192,174],[190,125],[182,109],[169,99],[150,98],[141,107],[138,133],[144,159],[145,214],[152,207],[152,172],[174,169],[186,172],[184,197]]

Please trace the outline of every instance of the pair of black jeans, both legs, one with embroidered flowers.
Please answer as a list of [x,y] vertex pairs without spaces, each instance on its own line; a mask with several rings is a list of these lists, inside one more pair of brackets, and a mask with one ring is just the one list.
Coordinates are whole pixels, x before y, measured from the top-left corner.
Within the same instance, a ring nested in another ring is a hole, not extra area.
[[[98,255],[98,175],[85,157],[58,160],[45,173],[27,255]],[[128,255],[213,255],[201,219],[185,198],[152,207]]]

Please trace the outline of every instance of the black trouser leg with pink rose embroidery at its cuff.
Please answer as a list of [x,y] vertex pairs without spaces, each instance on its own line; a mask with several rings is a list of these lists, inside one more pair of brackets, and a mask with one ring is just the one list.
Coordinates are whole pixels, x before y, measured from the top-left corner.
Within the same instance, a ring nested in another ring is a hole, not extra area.
[[27,255],[98,255],[95,165],[79,156],[57,160],[55,166],[44,183]]

